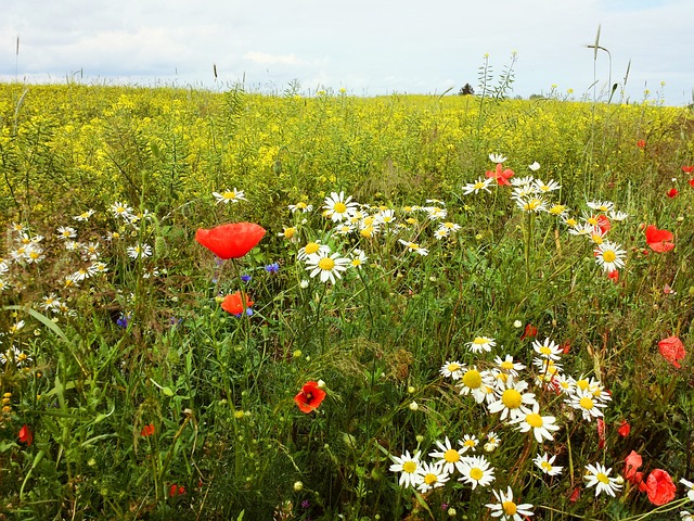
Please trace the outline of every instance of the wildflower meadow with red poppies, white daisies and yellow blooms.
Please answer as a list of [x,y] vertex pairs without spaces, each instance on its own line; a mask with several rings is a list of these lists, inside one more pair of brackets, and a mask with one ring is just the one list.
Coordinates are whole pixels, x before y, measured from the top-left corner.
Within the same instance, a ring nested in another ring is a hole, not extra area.
[[692,519],[694,116],[505,89],[0,85],[0,519]]

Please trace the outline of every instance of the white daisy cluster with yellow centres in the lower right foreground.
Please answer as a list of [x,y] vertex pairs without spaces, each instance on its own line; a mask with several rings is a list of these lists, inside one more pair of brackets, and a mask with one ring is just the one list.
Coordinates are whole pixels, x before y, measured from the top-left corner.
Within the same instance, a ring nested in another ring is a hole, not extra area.
[[[471,353],[480,354],[491,352],[497,342],[491,336],[479,335],[465,345]],[[526,366],[507,354],[496,356],[492,364],[480,360],[477,365],[466,365],[460,360],[449,360],[444,364],[439,373],[450,380],[461,395],[470,396],[473,402],[485,407],[489,415],[498,415],[494,423],[500,421],[502,425],[532,435],[540,449],[532,461],[540,472],[553,476],[561,474],[563,468],[554,465],[556,455],[548,454],[544,443],[552,442],[554,433],[561,427],[555,416],[547,414],[547,407],[541,410],[540,399],[535,391],[539,391],[543,397],[552,397],[552,402],[556,402],[554,397],[563,396],[560,412],[567,420],[573,419],[575,411],[580,411],[587,421],[601,418],[611,396],[604,385],[593,378],[581,376],[576,379],[565,374],[561,364],[564,350],[554,341],[535,340],[531,346],[532,371],[527,380],[522,378]],[[483,369],[485,365],[488,367]],[[465,434],[455,446],[448,437],[436,441],[437,450],[428,454],[434,458],[432,461],[423,460],[420,452],[411,455],[406,450],[401,456],[391,456],[394,463],[390,470],[400,473],[401,486],[416,487],[422,493],[444,486],[455,474],[459,475],[458,481],[472,485],[473,490],[477,486],[486,487],[496,480],[494,468],[485,455],[474,453],[480,447],[480,443],[484,452],[492,453],[501,442],[493,431],[484,435],[483,440],[486,443],[481,443],[475,434]],[[597,493],[614,495],[614,491],[621,486],[608,478],[607,469],[588,466],[587,471],[587,485],[599,485]],[[607,476],[606,481],[603,476]],[[494,491],[494,496],[503,504],[504,500],[511,501],[509,498],[513,497],[513,493],[511,490]],[[506,516],[504,519],[516,519],[511,512],[515,512],[514,508],[520,509],[520,506],[510,506],[506,510],[500,510],[493,505],[487,507],[492,510],[492,516]],[[531,505],[524,505],[523,508],[529,509]]]

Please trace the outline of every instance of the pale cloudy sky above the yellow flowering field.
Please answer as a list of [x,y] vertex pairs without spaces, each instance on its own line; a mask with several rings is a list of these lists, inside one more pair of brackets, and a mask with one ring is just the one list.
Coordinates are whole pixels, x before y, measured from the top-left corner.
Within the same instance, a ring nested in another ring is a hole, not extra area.
[[693,101],[693,0],[0,0],[0,13],[2,81],[441,94],[479,92],[485,55],[496,82],[515,52],[511,96],[618,82],[634,102]]

